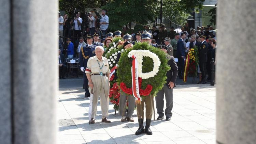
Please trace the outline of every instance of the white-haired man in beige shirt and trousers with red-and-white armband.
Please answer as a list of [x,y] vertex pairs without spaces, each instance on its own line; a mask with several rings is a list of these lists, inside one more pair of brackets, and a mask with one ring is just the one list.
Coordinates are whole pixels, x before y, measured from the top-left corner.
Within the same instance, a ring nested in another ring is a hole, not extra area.
[[93,94],[93,103],[91,111],[90,123],[95,123],[95,115],[97,112],[97,103],[100,97],[100,106],[102,111],[103,123],[111,123],[107,118],[109,116],[109,63],[108,59],[102,57],[104,48],[102,46],[96,46],[94,57],[88,60],[87,67],[85,70],[86,76],[89,80],[89,89]]

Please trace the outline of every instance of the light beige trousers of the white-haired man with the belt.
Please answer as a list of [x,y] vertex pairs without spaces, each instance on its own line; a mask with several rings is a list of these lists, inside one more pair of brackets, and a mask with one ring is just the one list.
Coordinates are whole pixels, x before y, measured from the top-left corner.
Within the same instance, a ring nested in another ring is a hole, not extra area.
[[[91,117],[95,117],[97,113],[97,103],[100,97],[100,107],[102,118],[109,116],[109,79],[106,76],[91,75],[93,81],[93,105]],[[91,93],[91,89],[89,88]]]

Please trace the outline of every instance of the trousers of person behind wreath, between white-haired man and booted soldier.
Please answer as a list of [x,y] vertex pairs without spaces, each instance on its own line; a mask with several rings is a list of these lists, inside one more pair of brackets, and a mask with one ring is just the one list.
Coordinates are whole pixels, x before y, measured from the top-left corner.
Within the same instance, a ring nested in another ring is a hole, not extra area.
[[[124,111],[124,107],[126,106],[125,105],[126,97],[128,98],[128,111],[126,111],[126,109]],[[124,111],[124,116],[131,117],[134,111],[134,107],[135,107],[135,97],[126,96],[124,93],[121,93],[119,98],[119,108],[118,108],[119,115],[122,116]]]

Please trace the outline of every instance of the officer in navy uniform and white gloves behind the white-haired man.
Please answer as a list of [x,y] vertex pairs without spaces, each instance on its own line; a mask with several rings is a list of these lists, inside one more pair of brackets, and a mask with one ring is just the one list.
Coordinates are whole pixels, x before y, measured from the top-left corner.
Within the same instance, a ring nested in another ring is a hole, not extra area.
[[[80,55],[79,55],[80,69],[82,71],[85,70],[88,59],[90,57],[95,56],[95,45],[93,45],[93,35],[87,34],[86,41],[87,41],[87,44],[81,47]],[[88,90],[88,79],[85,73],[84,73],[84,89],[85,89],[85,97],[90,97],[90,93]]]

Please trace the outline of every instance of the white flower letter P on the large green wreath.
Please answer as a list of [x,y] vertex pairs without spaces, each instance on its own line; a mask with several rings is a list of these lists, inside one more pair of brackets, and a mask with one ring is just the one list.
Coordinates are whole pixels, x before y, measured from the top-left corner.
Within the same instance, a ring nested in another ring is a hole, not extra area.
[[[161,61],[155,53],[153,53],[149,50],[131,50],[128,53],[128,57],[130,58],[132,55],[136,56],[136,59],[138,62],[139,77],[141,77],[142,79],[148,79],[148,78],[151,78],[151,77],[154,77],[155,75],[157,75]],[[142,73],[143,57],[150,57],[153,59],[153,62],[154,62],[153,70],[148,73]]]

